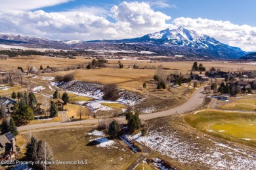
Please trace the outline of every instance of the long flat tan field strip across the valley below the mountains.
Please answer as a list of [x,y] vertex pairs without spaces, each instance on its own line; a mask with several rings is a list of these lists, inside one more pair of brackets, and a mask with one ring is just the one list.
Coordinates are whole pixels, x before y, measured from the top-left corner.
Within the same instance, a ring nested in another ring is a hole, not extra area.
[[[39,69],[40,65],[43,68],[49,65],[50,67],[68,67],[71,65],[78,65],[81,63],[89,63],[92,59],[84,59],[83,57],[77,57],[76,59],[63,59],[63,58],[50,58],[45,56],[19,56],[16,58],[9,58],[7,60],[1,60],[0,67],[3,70],[16,69],[18,66],[26,69],[27,65],[31,65]],[[119,60],[108,60],[108,65],[117,66]],[[165,68],[177,69],[178,72],[185,73],[189,71],[192,67],[192,61],[173,61],[173,62],[152,62],[150,61],[138,61],[138,60],[120,60],[121,63],[127,67],[133,67],[134,64],[140,65],[140,67],[163,65]],[[211,67],[220,68],[222,71],[240,71],[240,70],[255,70],[255,65],[247,65],[240,63],[230,63],[228,61],[198,61],[198,63],[203,63],[206,70]],[[174,71],[175,72],[175,71]]]

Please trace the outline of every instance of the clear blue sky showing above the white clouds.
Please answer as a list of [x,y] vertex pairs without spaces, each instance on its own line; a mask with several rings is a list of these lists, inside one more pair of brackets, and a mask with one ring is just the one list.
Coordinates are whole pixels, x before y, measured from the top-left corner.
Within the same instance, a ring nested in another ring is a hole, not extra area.
[[[43,10],[47,12],[60,12],[63,10],[75,9],[83,6],[87,7],[103,7],[109,11],[114,5],[122,1],[113,0],[96,0],[83,1],[75,0],[54,7],[46,7]],[[132,1],[127,1],[132,2]],[[142,2],[142,1],[139,1]],[[144,1],[154,2],[154,1]],[[158,3],[158,1],[155,1]],[[159,10],[172,18],[190,17],[190,18],[207,18],[211,20],[230,21],[233,24],[248,24],[256,26],[256,1],[255,0],[167,0],[160,1],[169,5],[169,7],[161,7],[152,5],[152,9]],[[161,5],[161,4],[160,4]]]

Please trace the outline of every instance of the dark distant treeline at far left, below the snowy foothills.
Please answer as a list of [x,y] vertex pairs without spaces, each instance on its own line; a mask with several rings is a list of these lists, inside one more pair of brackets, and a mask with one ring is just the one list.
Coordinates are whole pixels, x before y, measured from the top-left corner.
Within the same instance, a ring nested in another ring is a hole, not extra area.
[[8,55],[9,58],[13,58],[16,56],[43,55],[45,53],[35,50],[0,50],[0,54],[5,54]]

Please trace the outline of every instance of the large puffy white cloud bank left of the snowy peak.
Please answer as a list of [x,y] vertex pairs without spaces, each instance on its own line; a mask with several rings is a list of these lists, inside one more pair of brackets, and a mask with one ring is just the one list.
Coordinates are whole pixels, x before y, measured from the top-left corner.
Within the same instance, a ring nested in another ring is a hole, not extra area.
[[0,32],[21,33],[49,39],[123,39],[169,27],[171,17],[154,11],[147,3],[123,2],[111,9],[116,22],[107,20],[108,11],[81,7],[66,12],[19,12],[0,14]]

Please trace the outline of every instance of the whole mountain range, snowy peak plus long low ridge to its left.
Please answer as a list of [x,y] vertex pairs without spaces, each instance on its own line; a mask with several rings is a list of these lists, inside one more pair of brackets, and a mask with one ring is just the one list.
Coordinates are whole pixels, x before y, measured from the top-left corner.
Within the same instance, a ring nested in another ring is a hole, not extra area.
[[10,35],[0,33],[0,44],[22,44],[28,47],[47,47],[84,50],[133,50],[148,51],[157,56],[182,55],[208,59],[237,59],[247,53],[240,48],[228,46],[207,35],[198,35],[196,31],[179,27],[177,29],[164,29],[160,32],[150,33],[143,37],[121,40],[95,40],[95,41],[51,41],[49,39]]

